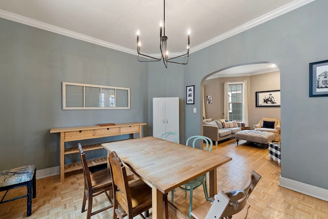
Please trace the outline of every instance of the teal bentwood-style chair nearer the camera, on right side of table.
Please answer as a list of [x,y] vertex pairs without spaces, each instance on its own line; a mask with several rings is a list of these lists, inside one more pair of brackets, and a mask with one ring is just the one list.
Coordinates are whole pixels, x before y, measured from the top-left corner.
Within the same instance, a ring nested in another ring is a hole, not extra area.
[[[195,135],[188,138],[186,145],[189,146],[189,142],[192,141],[192,147],[195,148],[195,143],[201,141],[201,143],[206,142],[206,147],[203,149],[204,151],[212,151],[213,142],[209,137]],[[202,145],[203,146],[203,145]],[[199,186],[203,186],[204,194],[206,201],[209,199],[208,190],[207,190],[207,180],[206,174],[198,176],[195,180],[192,180],[182,186],[179,186],[180,189],[185,191],[185,197],[187,197],[187,192],[189,191],[189,217],[191,217],[191,210],[193,207],[193,190],[197,189]],[[174,190],[171,191],[171,203],[174,201]]]

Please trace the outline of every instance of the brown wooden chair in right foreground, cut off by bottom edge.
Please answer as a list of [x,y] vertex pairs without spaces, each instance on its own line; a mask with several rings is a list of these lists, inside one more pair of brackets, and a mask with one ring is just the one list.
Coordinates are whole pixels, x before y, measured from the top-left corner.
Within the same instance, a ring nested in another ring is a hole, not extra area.
[[[261,176],[254,170],[251,172],[247,180],[244,182],[242,189],[224,192],[229,198],[229,205],[221,213],[220,218],[243,218],[245,219],[250,208],[248,197],[254,190]],[[191,212],[191,215],[196,219],[210,218],[210,211],[215,212],[213,204],[210,201],[196,208]]]

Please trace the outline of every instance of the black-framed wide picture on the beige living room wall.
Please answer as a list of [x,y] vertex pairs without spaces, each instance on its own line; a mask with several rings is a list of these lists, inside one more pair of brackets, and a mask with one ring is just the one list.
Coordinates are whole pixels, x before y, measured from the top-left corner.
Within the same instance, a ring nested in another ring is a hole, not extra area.
[[280,107],[280,90],[255,92],[256,107]]

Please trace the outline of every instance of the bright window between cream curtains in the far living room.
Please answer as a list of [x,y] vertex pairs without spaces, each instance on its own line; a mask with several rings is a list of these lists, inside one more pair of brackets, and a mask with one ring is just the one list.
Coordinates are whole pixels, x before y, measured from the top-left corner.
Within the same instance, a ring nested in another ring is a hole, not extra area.
[[242,96],[243,89],[241,83],[229,83],[229,120],[242,121]]

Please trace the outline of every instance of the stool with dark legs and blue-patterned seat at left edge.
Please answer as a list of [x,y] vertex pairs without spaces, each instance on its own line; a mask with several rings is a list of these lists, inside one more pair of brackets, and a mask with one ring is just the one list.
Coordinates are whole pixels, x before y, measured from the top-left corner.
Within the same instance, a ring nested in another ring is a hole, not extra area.
[[[10,170],[0,171],[0,192],[6,191],[2,197],[0,204],[17,200],[19,198],[27,197],[27,216],[32,213],[32,196],[36,197],[36,168],[35,165],[28,165],[23,167],[17,167]],[[27,194],[5,200],[4,198],[9,189],[14,189],[22,186],[27,186]]]

